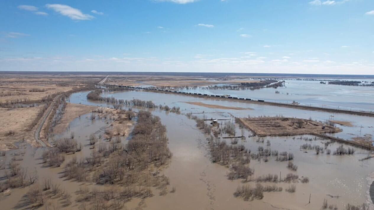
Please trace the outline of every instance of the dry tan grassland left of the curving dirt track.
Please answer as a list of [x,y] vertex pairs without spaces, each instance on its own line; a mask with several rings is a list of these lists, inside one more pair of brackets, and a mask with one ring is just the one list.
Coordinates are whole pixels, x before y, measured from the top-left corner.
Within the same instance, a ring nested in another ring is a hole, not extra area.
[[[61,94],[92,89],[104,77],[105,75],[0,74],[0,150],[15,148],[15,143],[20,141],[37,145],[34,133],[46,110],[50,107],[51,112],[47,113],[49,116],[43,128],[48,129],[42,130],[42,137],[46,137],[51,130],[51,120],[59,119],[55,115],[64,113],[65,107],[61,103],[65,101],[58,100],[54,103],[54,98]],[[59,112],[57,109],[60,109]],[[55,124],[56,122],[53,123]]]

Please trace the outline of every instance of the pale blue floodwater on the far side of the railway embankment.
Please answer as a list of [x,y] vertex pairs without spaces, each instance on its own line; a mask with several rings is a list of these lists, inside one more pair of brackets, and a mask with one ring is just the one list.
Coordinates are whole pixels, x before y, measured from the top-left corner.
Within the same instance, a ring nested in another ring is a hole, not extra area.
[[[282,81],[282,79],[279,79]],[[371,82],[371,80],[368,80]],[[277,103],[292,103],[296,101],[305,106],[325,107],[332,109],[346,109],[373,112],[374,87],[327,85],[320,81],[285,80],[285,86],[274,88],[261,88],[259,90],[221,90],[197,87],[196,89],[182,89],[184,92],[230,95],[263,99]],[[279,91],[279,93],[275,93]]]

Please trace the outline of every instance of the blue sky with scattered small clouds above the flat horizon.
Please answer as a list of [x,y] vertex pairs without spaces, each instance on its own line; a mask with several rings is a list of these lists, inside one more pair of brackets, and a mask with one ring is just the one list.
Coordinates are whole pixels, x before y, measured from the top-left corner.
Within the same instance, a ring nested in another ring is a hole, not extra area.
[[374,0],[0,1],[1,71],[374,74]]

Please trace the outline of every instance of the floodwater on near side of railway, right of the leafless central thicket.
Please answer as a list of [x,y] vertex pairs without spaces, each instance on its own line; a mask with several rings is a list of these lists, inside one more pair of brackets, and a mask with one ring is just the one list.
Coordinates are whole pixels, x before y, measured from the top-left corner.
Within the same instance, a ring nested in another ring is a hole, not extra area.
[[[274,106],[260,106],[256,104],[220,100],[203,100],[204,103],[248,107],[254,110],[213,109],[203,106],[193,106],[192,104],[186,105],[186,103],[183,103],[184,101],[195,101],[196,98],[193,97],[172,95],[171,98],[167,94],[145,91],[108,93],[106,96],[128,100],[138,98],[141,100],[152,100],[156,104],[180,106],[182,113],[193,113],[193,115],[205,119],[233,120],[232,116],[284,115],[301,116],[305,118],[313,117],[313,119],[316,120],[326,120],[330,115],[334,115],[334,113],[293,110]],[[79,95],[72,95],[70,101],[82,104],[93,103]],[[108,104],[100,105],[108,106]],[[207,205],[211,206],[212,209],[226,209],[234,206],[243,208],[243,205],[244,209],[251,209],[253,207],[262,209],[319,209],[324,199],[327,199],[330,204],[337,205],[339,209],[342,209],[346,203],[359,204],[371,202],[369,186],[372,181],[371,173],[373,173],[373,166],[370,159],[359,161],[371,153],[367,150],[355,148],[355,154],[350,156],[334,156],[326,153],[316,155],[314,150],[301,150],[300,146],[303,144],[312,144],[323,147],[324,143],[328,140],[314,140],[314,137],[304,135],[296,137],[265,137],[264,139],[265,142],[266,140],[270,140],[271,146],[269,146],[269,149],[293,153],[295,155],[293,162],[299,167],[297,174],[300,177],[309,177],[310,182],[308,184],[297,183],[297,192],[293,194],[288,192],[269,192],[265,193],[263,200],[243,203],[240,199],[232,196],[232,193],[237,186],[241,185],[241,182],[239,180],[227,180],[226,175],[229,171],[228,168],[211,163],[209,151],[206,146],[207,137],[196,128],[194,120],[174,113],[165,114],[165,112],[162,111],[154,112],[154,114],[161,117],[162,122],[165,122],[168,129],[168,138],[170,140],[169,147],[174,156],[170,166],[165,170],[165,174],[171,178],[171,182],[175,183],[177,192],[162,198],[147,199],[145,203],[147,203],[149,209],[158,209],[158,207],[160,207],[159,209],[165,209],[170,205],[170,200],[178,201],[179,203],[185,202],[188,206],[186,209]],[[366,131],[370,133],[372,131],[372,129],[369,128],[372,126],[370,124],[372,123],[370,117],[335,114],[334,119],[350,120],[354,125],[353,127],[337,125],[343,129],[343,132],[335,135],[341,137],[350,138],[352,134],[360,135],[359,128],[357,128],[357,123],[355,122],[368,123],[366,128],[361,128],[361,132]],[[238,126],[236,129],[237,134],[242,132],[242,129]],[[257,142],[257,137],[248,138],[249,135],[251,135],[251,132],[244,129],[244,136],[246,138],[244,140],[239,140],[239,144],[244,145],[252,151],[256,151],[259,146],[264,146],[266,148],[266,143]],[[313,140],[309,141],[305,139]],[[229,142],[230,140],[227,141]],[[341,144],[335,142],[330,144],[329,149],[334,151],[340,145]],[[286,175],[289,173],[286,164],[287,162],[277,162],[274,158],[270,158],[269,162],[256,163],[253,161],[250,165],[254,167],[256,171],[255,175],[260,176],[268,173],[281,173]],[[191,170],[191,168],[194,170]],[[349,169],[349,171],[347,169]],[[352,179],[352,177],[355,178]],[[199,179],[200,182],[198,182],[197,179]],[[203,184],[201,182],[203,182]],[[286,188],[289,184],[281,183],[278,185]],[[202,195],[197,197],[201,198],[201,200],[197,200],[194,204],[188,202],[188,197],[195,197],[200,193]],[[313,199],[309,205],[305,206],[309,200],[310,194],[312,194]],[[206,198],[207,196],[209,200]],[[292,201],[291,206],[289,201]]]

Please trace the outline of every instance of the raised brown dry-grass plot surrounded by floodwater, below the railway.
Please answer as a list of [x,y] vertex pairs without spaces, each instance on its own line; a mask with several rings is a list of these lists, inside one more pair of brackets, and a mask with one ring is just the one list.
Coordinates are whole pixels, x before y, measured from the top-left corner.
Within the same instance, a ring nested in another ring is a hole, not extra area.
[[240,122],[260,137],[341,132],[340,128],[324,123],[286,117],[240,118]]

